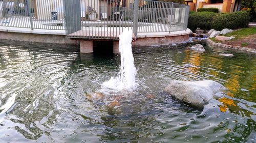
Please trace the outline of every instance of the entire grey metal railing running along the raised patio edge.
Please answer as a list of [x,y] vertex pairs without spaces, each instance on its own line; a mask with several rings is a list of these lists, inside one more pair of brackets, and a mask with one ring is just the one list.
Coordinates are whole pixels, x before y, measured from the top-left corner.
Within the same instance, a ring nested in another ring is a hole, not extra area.
[[187,28],[189,6],[148,0],[3,0],[0,26],[66,30],[66,37],[119,39]]

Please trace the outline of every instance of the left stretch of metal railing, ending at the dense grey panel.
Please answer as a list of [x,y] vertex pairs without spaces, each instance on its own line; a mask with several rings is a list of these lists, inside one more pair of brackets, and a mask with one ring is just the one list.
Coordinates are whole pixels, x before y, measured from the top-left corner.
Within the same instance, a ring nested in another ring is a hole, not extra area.
[[3,0],[0,26],[65,30],[63,0]]

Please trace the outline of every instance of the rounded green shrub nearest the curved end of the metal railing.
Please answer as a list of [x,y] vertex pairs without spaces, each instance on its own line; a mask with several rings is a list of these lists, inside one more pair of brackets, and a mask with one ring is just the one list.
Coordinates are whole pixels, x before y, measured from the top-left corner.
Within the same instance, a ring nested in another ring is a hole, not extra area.
[[196,31],[197,27],[201,30],[210,30],[211,29],[211,21],[217,13],[214,12],[195,12],[189,14],[188,17],[188,28],[191,31]]

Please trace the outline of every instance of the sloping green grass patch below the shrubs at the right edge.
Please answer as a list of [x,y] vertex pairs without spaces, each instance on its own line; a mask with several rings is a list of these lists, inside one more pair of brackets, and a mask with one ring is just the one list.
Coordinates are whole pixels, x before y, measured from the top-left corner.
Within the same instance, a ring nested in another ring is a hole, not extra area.
[[249,28],[242,28],[237,31],[233,31],[231,33],[225,34],[223,36],[233,36],[236,37],[235,39],[232,40],[238,40],[238,39],[243,39],[245,37],[248,37],[250,35],[256,34],[256,27],[249,27]]

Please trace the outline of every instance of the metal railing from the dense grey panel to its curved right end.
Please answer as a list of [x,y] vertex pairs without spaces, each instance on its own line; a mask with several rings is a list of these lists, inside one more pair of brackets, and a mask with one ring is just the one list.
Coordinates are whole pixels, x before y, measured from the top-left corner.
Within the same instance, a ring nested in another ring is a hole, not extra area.
[[132,29],[134,37],[186,30],[189,6],[145,0],[65,0],[65,10],[67,37],[118,39],[124,28]]

